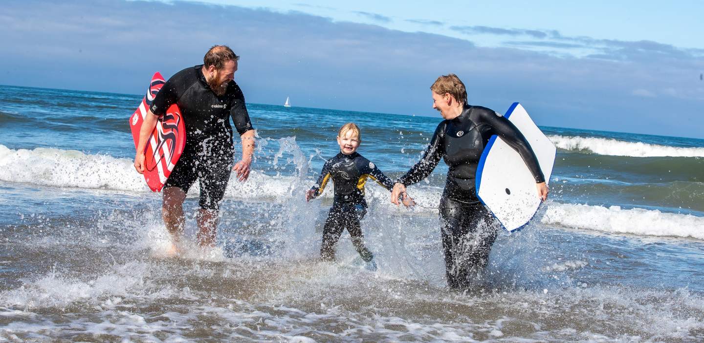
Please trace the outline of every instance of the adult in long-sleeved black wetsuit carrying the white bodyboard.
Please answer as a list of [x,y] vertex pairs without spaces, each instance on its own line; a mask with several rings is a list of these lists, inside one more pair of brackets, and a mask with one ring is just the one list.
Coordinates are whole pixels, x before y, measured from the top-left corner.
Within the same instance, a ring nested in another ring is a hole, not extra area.
[[477,163],[489,138],[498,135],[521,155],[543,201],[548,197],[548,187],[520,131],[500,113],[468,105],[465,84],[456,75],[439,77],[430,89],[433,108],[445,120],[435,129],[421,160],[394,184],[391,202],[398,205],[398,198],[407,196],[406,186],[425,179],[444,158],[449,167],[440,200],[445,272],[451,288],[463,289],[484,270],[498,233],[493,217],[479,204],[474,190]]

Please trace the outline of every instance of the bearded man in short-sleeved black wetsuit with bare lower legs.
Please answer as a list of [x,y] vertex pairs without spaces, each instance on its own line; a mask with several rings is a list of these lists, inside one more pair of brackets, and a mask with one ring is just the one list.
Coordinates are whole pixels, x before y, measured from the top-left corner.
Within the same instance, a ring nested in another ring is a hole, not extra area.
[[[201,188],[197,238],[201,246],[212,246],[220,201],[231,171],[237,173],[239,181],[249,177],[255,131],[244,95],[234,82],[238,60],[239,56],[227,46],[213,46],[203,58],[203,65],[187,67],[164,84],[142,124],[134,157],[134,168],[140,174],[144,172],[144,148],[149,134],[171,104],[179,106],[186,126],[186,146],[163,188],[162,216],[174,242],[179,242],[184,229],[183,202],[196,179]],[[230,117],[242,141],[242,160],[234,168]]]

